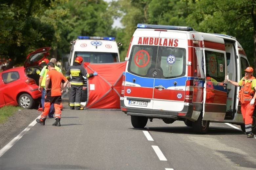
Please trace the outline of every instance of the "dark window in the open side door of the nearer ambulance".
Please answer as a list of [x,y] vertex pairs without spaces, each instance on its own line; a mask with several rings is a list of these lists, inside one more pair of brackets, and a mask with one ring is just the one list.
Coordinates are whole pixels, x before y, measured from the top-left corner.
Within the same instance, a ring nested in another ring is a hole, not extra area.
[[225,56],[224,53],[205,51],[206,77],[211,77],[217,82],[225,80]]

